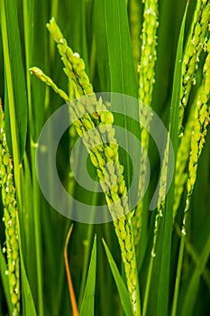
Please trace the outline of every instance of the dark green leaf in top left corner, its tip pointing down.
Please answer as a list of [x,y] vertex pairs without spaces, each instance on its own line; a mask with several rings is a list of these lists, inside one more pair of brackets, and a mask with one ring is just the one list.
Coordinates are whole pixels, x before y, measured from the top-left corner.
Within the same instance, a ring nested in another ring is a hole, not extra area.
[[[4,3],[5,1],[2,1]],[[2,4],[3,5],[3,4]],[[4,46],[8,45],[8,51],[5,50],[5,77],[7,80],[8,91],[6,93],[10,94],[13,89],[14,105],[10,102],[11,96],[8,96],[9,104],[5,106],[5,113],[10,115],[11,126],[8,126],[7,120],[7,132],[14,124],[13,116],[11,116],[11,111],[15,113],[15,125],[16,125],[16,140],[14,139],[14,133],[12,132],[12,142],[17,142],[18,151],[19,151],[19,160],[23,158],[23,152],[25,148],[26,141],[26,131],[27,131],[27,99],[26,99],[26,88],[25,88],[25,79],[23,71],[23,60],[22,60],[22,48],[20,41],[19,26],[17,20],[17,4],[16,0],[6,1],[5,2],[5,27],[4,23],[2,25],[2,32],[4,40]],[[6,43],[6,40],[8,41]],[[10,66],[8,65],[10,64]],[[8,67],[11,70],[11,78]],[[12,108],[11,108],[12,107]],[[13,108],[14,107],[14,108]],[[10,152],[12,153],[12,145],[9,144]]]

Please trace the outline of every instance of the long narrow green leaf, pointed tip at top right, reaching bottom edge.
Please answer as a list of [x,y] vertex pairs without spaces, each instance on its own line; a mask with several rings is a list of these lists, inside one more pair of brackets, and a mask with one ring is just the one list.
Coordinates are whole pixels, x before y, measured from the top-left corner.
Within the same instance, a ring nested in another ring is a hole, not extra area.
[[[178,150],[178,109],[180,101],[181,87],[181,60],[183,57],[183,42],[187,8],[181,23],[178,50],[175,62],[175,72],[173,81],[173,91],[170,108],[169,136],[173,144],[175,162]],[[158,292],[158,315],[164,316],[169,314],[169,274],[170,274],[170,255],[171,255],[171,236],[172,236],[172,219],[173,219],[173,198],[174,198],[174,177],[166,198],[166,209],[164,216],[164,235],[162,240],[161,265],[160,265],[160,286]]]

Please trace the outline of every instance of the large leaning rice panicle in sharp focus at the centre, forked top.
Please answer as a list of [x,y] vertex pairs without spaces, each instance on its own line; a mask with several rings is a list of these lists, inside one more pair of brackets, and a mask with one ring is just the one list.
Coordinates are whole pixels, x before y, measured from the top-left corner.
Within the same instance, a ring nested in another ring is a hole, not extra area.
[[[76,119],[74,125],[77,133],[79,136],[83,136],[84,144],[105,191],[105,199],[114,218],[114,228],[121,247],[133,315],[139,315],[140,294],[131,214],[128,209],[127,189],[123,179],[123,166],[119,162],[118,145],[112,127],[114,116],[106,109],[102,98],[96,100],[85,71],[84,61],[80,59],[78,53],[73,53],[68,47],[54,19],[50,20],[47,27],[54,41],[58,43],[59,53],[65,66],[64,71],[68,76],[69,97],[38,68],[33,67],[31,72],[41,81],[50,85],[65,101],[76,98],[77,107],[72,107],[73,103],[70,103],[70,115]],[[88,96],[85,104],[80,98],[82,96]],[[86,111],[87,100],[88,113]],[[120,218],[118,218],[119,214]]]

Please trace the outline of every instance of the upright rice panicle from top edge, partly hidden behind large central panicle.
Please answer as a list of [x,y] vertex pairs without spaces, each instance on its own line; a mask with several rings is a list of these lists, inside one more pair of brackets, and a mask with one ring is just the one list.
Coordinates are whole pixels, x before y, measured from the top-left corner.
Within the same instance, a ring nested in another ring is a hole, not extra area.
[[[153,85],[155,83],[155,62],[157,60],[157,29],[158,22],[158,1],[145,0],[142,24],[142,51],[141,60],[138,67],[139,75],[139,99],[143,104],[151,106]],[[140,122],[143,113],[140,111]],[[147,126],[150,125],[151,117],[147,117]],[[141,172],[139,181],[139,196],[144,188],[146,178],[146,159],[149,149],[150,135],[149,132],[141,126],[141,143],[142,151],[141,156]],[[135,245],[139,244],[141,234],[143,200],[141,200],[136,209],[135,216],[132,218]]]

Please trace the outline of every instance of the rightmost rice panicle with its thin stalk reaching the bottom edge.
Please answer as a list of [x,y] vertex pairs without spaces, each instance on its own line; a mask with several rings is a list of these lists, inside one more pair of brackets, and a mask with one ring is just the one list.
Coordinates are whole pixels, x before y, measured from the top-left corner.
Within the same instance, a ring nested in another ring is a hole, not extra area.
[[190,156],[188,162],[188,179],[187,179],[187,199],[186,206],[184,209],[184,217],[181,229],[181,243],[179,247],[178,254],[178,270],[177,278],[175,284],[174,301],[172,308],[172,315],[176,315],[177,304],[178,304],[178,289],[180,283],[180,275],[182,270],[182,262],[186,244],[187,237],[187,217],[188,211],[190,209],[191,196],[194,191],[194,186],[196,183],[196,171],[199,157],[202,153],[203,146],[205,144],[205,135],[207,133],[207,125],[209,124],[209,98],[210,98],[210,40],[208,40],[206,45],[207,56],[205,58],[205,65],[203,69],[204,79],[202,87],[198,97],[196,99],[196,109],[195,109],[195,120],[193,131],[191,134],[191,144],[190,144]]

